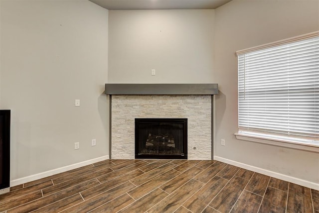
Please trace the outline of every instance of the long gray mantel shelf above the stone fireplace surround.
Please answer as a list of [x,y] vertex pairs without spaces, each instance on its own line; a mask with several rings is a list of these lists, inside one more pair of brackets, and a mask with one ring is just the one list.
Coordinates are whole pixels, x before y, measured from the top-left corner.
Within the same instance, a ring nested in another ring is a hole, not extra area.
[[218,84],[105,84],[107,95],[217,95]]

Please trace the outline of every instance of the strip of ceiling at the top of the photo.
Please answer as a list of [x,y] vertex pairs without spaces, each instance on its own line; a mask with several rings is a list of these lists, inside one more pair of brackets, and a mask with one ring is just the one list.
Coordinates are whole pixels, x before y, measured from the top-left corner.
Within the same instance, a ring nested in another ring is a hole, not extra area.
[[215,9],[231,0],[90,0],[106,9]]

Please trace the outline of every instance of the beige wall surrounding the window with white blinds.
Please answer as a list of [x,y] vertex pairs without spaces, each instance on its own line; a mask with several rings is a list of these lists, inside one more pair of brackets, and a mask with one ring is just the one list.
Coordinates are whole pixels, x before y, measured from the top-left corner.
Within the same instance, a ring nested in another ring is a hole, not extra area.
[[[319,30],[318,0],[233,0],[215,10],[216,155],[319,184],[319,154],[236,140],[236,50]],[[226,139],[226,146],[220,139]]]

